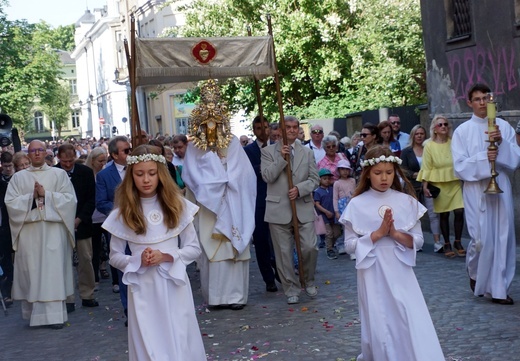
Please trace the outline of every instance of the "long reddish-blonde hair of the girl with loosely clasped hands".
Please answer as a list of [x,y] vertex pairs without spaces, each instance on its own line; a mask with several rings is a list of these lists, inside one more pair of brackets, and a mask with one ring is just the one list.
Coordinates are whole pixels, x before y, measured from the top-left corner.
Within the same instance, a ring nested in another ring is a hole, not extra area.
[[[132,156],[142,154],[161,154],[161,149],[153,145],[143,144],[132,152]],[[126,169],[125,178],[116,190],[115,204],[119,208],[123,222],[136,234],[146,233],[146,219],[141,206],[139,191],[134,184],[134,165]],[[164,214],[164,223],[169,229],[175,228],[183,211],[182,195],[179,187],[173,182],[166,164],[157,162],[157,201],[161,205]]]

